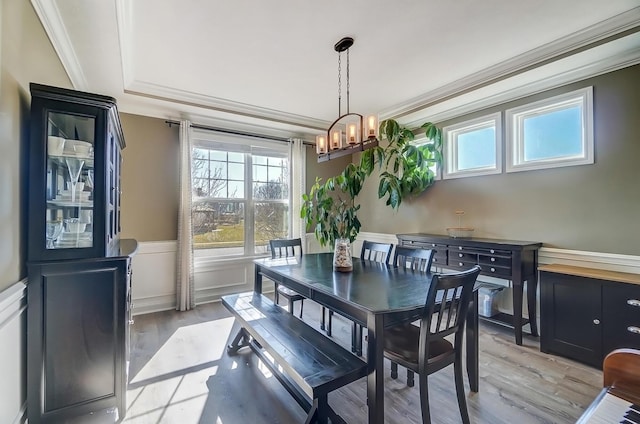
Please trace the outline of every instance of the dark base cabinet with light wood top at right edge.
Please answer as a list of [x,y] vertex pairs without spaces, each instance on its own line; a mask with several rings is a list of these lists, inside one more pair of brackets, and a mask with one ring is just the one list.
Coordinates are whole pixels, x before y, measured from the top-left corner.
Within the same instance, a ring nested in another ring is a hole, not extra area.
[[602,368],[618,348],[640,348],[640,275],[540,267],[540,350]]

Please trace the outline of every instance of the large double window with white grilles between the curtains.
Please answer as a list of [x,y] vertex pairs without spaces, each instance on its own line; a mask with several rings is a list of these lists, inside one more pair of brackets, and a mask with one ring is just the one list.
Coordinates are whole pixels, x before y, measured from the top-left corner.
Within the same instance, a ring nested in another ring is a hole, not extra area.
[[286,144],[198,133],[191,174],[195,258],[264,254],[289,236]]

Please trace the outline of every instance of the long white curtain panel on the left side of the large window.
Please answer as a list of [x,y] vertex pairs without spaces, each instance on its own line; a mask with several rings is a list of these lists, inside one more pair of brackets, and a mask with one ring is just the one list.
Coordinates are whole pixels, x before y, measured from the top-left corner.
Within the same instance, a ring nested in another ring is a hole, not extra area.
[[195,305],[193,286],[193,235],[191,231],[191,122],[180,121],[180,206],[178,208],[178,264],[176,309]]

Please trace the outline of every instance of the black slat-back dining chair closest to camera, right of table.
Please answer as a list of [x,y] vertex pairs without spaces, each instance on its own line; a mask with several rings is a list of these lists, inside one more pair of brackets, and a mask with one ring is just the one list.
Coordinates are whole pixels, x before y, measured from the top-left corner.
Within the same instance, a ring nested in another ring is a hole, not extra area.
[[[480,267],[431,278],[420,326],[411,323],[384,332],[384,356],[418,374],[422,422],[430,423],[427,377],[453,364],[453,374],[462,422],[469,423],[469,411],[462,380],[464,327],[473,298],[473,286]],[[453,335],[453,343],[445,337]]]

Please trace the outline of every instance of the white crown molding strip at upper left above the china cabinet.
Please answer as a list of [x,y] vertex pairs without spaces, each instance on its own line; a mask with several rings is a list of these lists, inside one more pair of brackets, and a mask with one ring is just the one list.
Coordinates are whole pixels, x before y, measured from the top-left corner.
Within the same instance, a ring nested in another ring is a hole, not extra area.
[[71,80],[71,85],[76,90],[87,91],[89,88],[87,79],[73,49],[67,29],[62,22],[56,2],[54,0],[31,0],[31,5],[49,36],[49,40]]

